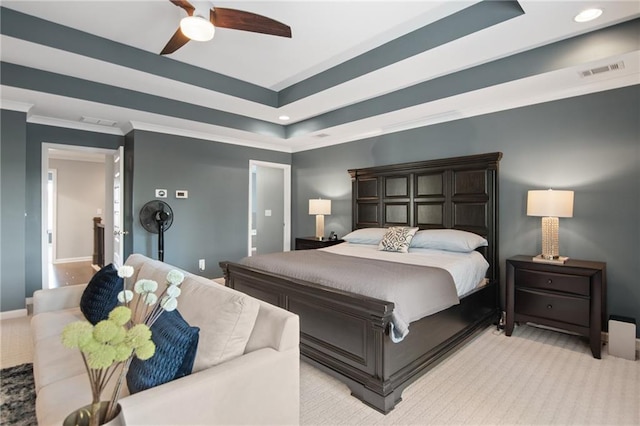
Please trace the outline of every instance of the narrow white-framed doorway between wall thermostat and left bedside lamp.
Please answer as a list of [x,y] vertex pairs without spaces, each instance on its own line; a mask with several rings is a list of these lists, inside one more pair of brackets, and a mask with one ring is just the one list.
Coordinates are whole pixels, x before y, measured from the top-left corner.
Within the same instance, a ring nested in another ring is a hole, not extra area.
[[291,166],[249,161],[248,255],[291,249]]

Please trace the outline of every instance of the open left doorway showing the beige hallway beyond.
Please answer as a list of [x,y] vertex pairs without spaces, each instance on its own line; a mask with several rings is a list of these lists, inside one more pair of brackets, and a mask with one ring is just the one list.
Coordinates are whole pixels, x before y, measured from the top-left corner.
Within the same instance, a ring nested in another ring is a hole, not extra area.
[[104,219],[113,204],[107,181],[112,155],[111,150],[43,144],[43,288],[84,284],[95,273],[94,224],[97,219],[109,225]]

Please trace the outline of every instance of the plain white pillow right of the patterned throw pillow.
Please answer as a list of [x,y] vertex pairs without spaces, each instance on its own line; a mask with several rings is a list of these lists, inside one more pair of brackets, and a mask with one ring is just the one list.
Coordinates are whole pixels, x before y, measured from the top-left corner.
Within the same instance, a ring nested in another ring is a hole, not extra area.
[[412,248],[429,248],[436,250],[469,253],[478,247],[486,247],[489,243],[473,232],[458,229],[425,229],[416,232],[411,239]]

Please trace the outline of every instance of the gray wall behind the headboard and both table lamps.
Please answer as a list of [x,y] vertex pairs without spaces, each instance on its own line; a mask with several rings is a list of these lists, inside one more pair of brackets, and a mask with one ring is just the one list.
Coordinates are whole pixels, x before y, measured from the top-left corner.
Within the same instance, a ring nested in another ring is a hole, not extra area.
[[[332,200],[326,229],[351,230],[347,169],[501,151],[499,251],[540,251],[529,189],[572,189],[561,254],[607,262],[610,314],[640,320],[640,86],[544,103],[293,155],[294,235],[307,235],[310,197]],[[639,330],[640,336],[640,330]]]

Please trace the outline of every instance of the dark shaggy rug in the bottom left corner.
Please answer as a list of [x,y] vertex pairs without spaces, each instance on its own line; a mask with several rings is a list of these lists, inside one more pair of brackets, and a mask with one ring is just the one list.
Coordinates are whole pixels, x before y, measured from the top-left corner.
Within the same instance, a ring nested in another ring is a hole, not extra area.
[[32,364],[0,370],[0,425],[35,425],[35,404]]

